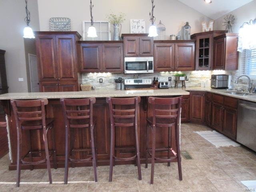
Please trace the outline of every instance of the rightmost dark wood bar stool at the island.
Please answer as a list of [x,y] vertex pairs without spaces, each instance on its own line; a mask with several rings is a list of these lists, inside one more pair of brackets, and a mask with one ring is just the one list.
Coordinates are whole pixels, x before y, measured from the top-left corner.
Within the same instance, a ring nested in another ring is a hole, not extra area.
[[[148,103],[152,105],[153,116],[147,118],[146,128],[146,165],[148,168],[148,154],[151,156],[151,179],[150,184],[154,182],[154,165],[155,162],[178,161],[179,179],[182,180],[181,158],[180,158],[180,110],[182,97],[176,98],[154,98],[149,97]],[[163,109],[164,108],[164,109]],[[168,109],[168,110],[167,110]],[[172,148],[172,128],[174,126],[176,149]],[[148,148],[148,127],[152,131],[152,148]],[[166,148],[156,148],[156,131],[160,128],[168,127],[168,146]],[[155,152],[167,151],[167,158],[156,158]],[[174,157],[170,157],[170,155]]]

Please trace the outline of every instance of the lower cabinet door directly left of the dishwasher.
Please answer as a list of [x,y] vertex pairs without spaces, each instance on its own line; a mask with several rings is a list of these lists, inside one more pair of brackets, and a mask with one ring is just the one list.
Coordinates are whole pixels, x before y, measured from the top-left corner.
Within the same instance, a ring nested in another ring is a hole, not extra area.
[[237,110],[224,107],[223,127],[222,127],[223,133],[232,139],[236,139],[236,125],[237,125]]

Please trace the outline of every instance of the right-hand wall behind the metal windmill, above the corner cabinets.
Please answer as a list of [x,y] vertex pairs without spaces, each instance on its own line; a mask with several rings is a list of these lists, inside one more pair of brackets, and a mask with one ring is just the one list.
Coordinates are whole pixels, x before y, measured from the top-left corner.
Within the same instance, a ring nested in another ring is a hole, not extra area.
[[[233,33],[238,33],[240,26],[244,22],[249,22],[250,19],[254,20],[256,18],[256,0],[228,13],[235,16],[235,24],[234,27],[232,27]],[[227,14],[226,14],[227,15]],[[214,22],[214,29],[215,30],[224,30],[224,26],[222,26],[222,22],[224,17],[222,16],[215,20]]]

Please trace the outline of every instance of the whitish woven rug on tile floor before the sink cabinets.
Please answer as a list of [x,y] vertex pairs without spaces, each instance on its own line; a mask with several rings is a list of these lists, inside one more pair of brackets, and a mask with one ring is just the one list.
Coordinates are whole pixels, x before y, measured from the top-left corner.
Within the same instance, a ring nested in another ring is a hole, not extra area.
[[240,144],[216,131],[195,131],[195,133],[199,134],[216,147],[240,146]]

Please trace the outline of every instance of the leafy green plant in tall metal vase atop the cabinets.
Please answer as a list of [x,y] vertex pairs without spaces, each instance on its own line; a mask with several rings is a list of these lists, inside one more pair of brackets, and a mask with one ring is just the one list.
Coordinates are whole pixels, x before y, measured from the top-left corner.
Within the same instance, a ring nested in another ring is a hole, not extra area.
[[[122,22],[125,21],[124,18],[125,14],[120,12],[119,14],[109,14],[106,16],[106,18],[108,18],[108,21],[114,25],[114,40],[118,41],[120,40],[120,33],[122,30]],[[119,25],[121,25],[121,29],[119,31]]]

